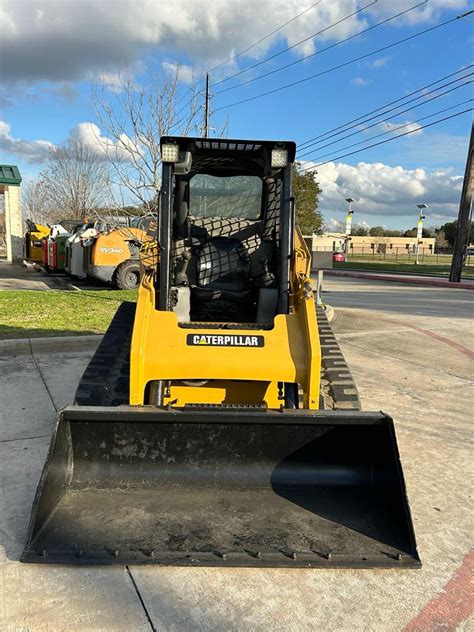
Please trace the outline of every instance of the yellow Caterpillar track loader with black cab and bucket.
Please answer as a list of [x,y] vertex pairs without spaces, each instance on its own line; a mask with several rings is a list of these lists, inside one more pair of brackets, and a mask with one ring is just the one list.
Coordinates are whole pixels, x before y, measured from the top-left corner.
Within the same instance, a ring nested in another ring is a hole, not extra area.
[[161,151],[138,303],[58,415],[23,561],[419,566],[393,422],[315,310],[295,144]]

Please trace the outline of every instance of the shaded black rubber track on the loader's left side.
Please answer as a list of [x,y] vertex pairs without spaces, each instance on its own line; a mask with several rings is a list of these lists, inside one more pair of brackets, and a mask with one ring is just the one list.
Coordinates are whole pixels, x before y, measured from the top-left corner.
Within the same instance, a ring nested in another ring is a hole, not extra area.
[[129,403],[130,344],[136,303],[120,305],[77,387],[79,406]]

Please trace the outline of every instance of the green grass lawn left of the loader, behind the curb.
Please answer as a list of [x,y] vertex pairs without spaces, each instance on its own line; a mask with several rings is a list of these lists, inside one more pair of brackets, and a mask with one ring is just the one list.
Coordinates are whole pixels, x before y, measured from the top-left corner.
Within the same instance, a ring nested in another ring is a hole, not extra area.
[[5,290],[0,292],[0,339],[101,334],[136,290]]

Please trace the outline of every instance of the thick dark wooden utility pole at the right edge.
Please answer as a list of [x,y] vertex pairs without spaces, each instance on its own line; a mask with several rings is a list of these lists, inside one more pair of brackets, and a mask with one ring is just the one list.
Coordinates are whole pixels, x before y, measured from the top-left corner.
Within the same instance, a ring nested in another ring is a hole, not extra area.
[[464,172],[464,183],[461,193],[461,201],[459,203],[458,223],[456,226],[456,239],[454,241],[453,260],[451,262],[451,272],[449,280],[451,283],[459,283],[461,281],[462,264],[464,254],[466,252],[467,240],[471,229],[470,212],[472,204],[472,180],[474,164],[472,154],[474,152],[474,125],[471,126],[471,139],[469,141],[469,150],[467,152],[466,170]]

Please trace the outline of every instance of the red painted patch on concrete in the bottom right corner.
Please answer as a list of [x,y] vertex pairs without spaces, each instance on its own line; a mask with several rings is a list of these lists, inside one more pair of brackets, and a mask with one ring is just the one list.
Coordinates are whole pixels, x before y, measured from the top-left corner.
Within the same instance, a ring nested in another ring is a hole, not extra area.
[[474,612],[473,572],[474,550],[465,556],[442,592],[427,603],[402,632],[454,632]]

